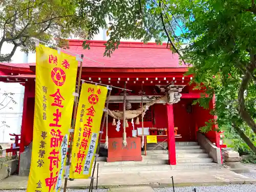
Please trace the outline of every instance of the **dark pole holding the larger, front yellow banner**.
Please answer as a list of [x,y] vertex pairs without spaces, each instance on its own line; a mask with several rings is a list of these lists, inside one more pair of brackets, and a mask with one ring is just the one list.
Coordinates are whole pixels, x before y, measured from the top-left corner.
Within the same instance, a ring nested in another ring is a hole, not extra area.
[[[81,54],[81,59],[83,59],[83,54]],[[77,91],[76,93],[79,94],[80,92],[80,87],[81,87],[81,75],[82,75],[82,61],[80,61],[80,69],[79,69],[79,76],[78,76],[78,85],[77,85]],[[77,111],[77,106],[78,106],[78,100],[79,96],[75,97],[75,107],[74,107],[74,112],[73,112],[73,122],[72,122],[72,129],[75,129],[75,122],[76,122],[76,111]],[[68,159],[66,166],[70,166],[70,159],[71,159],[71,151],[72,151],[72,143],[73,143],[73,137],[74,137],[74,132],[70,133],[70,147],[69,147],[69,154],[68,154]],[[68,174],[68,173],[65,173]],[[68,183],[68,177],[66,176],[65,178],[65,183],[63,187],[63,192],[66,192],[67,190],[67,183]]]

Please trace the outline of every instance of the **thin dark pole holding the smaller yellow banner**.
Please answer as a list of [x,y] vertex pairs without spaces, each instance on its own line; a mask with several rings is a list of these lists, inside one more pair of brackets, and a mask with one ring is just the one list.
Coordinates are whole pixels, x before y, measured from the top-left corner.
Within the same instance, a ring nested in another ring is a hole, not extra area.
[[[110,95],[111,95],[112,86],[110,88],[111,89],[109,90],[108,98],[106,99],[106,108],[105,108],[106,111],[105,111],[105,116],[103,118],[103,122],[101,124],[101,130],[100,130],[101,133],[99,135],[99,140],[98,140],[98,146],[97,146],[96,154],[99,154],[100,140],[101,140],[103,129],[104,129],[105,119],[106,119],[106,116],[108,115],[108,108],[109,108],[109,101],[110,101]],[[92,171],[92,176],[91,176],[91,183],[90,183],[90,187],[89,187],[89,192],[93,191],[93,179],[94,179],[93,177],[94,177],[94,171],[95,171],[95,167],[96,167],[96,161],[97,161],[97,156],[95,156],[95,159],[94,159],[94,166],[93,166],[93,171]]]

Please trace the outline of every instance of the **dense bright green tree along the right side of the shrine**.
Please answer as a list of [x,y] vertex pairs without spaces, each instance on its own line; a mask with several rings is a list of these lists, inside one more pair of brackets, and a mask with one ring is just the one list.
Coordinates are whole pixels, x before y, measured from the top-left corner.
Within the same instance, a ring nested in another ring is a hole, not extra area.
[[189,39],[183,58],[193,65],[195,89],[205,89],[208,96],[198,101],[206,106],[215,94],[216,123],[232,126],[254,153],[244,130],[250,127],[256,134],[255,8],[253,0],[176,0],[168,6],[186,30],[181,39]]

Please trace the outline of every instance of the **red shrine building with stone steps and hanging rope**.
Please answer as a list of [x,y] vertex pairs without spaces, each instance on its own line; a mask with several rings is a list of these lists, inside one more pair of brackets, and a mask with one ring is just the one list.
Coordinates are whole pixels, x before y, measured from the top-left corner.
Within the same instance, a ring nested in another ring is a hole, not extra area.
[[[214,101],[210,101],[209,109],[192,104],[194,100],[201,97],[202,92],[194,90],[193,85],[189,85],[193,76],[185,76],[188,66],[180,65],[178,55],[166,49],[166,44],[121,42],[109,58],[103,57],[105,41],[90,41],[90,50],[84,50],[82,42],[82,40],[69,40],[69,51],[84,55],[81,75],[83,80],[119,88],[123,88],[125,84],[126,89],[131,90],[124,93],[121,89],[112,89],[109,110],[113,114],[123,111],[124,94],[126,95],[126,113],[141,108],[141,102],[143,105],[151,103],[146,106],[143,120],[141,115],[138,118],[126,118],[127,149],[118,144],[122,141],[124,132],[122,119],[119,120],[118,129],[118,119],[111,115],[108,116],[106,122],[108,130],[104,125],[100,140],[102,146],[100,156],[102,157],[99,159],[101,161],[108,161],[105,163],[141,161],[136,165],[141,164],[141,167],[145,167],[146,165],[165,164],[165,167],[167,165],[172,167],[166,167],[167,170],[179,168],[179,165],[195,168],[222,163],[222,143],[220,133],[214,131],[216,127],[212,127],[212,131],[206,134],[201,134],[199,131],[205,122],[217,118],[210,114],[210,110],[214,108]],[[0,63],[0,81],[18,82],[25,86],[22,131],[18,150],[20,156],[27,153],[29,159],[31,156],[29,157],[26,148],[29,148],[32,142],[36,142],[32,138],[35,63]],[[142,131],[142,126],[143,134],[154,135],[157,142],[147,143],[145,138],[145,144],[141,150],[138,146],[141,146],[142,138],[139,129]],[[109,141],[108,150],[104,150],[106,133]],[[136,144],[137,147],[132,146],[132,143],[130,146],[129,142]],[[134,157],[134,154],[137,157]],[[24,164],[22,161],[24,160],[20,157],[20,166]],[[118,165],[114,164],[114,166],[116,168]],[[25,169],[22,168],[22,170]],[[26,175],[26,173],[21,175]]]

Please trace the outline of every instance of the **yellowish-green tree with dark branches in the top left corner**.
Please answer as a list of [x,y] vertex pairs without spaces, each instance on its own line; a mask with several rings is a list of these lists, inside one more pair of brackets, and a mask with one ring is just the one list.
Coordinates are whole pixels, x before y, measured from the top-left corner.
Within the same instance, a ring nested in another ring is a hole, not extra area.
[[[0,62],[10,61],[17,47],[34,50],[31,37],[47,42],[87,37],[87,19],[79,16],[77,1],[3,0],[0,7]],[[13,45],[8,54],[1,52],[5,42]]]

